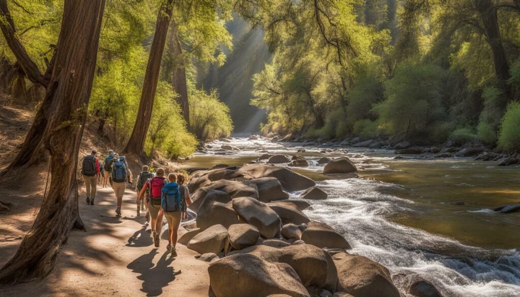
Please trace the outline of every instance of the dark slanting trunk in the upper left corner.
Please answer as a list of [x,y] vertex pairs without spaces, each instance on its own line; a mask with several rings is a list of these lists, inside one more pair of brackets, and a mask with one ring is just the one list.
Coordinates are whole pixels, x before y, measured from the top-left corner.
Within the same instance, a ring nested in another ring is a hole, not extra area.
[[0,29],[4,34],[5,41],[12,53],[15,54],[16,60],[27,75],[27,78],[35,84],[47,86],[48,80],[44,78],[36,63],[31,60],[27,50],[25,50],[25,47],[16,37],[16,27],[7,7],[7,0],[0,0],[0,16],[5,18],[5,21],[0,21]]

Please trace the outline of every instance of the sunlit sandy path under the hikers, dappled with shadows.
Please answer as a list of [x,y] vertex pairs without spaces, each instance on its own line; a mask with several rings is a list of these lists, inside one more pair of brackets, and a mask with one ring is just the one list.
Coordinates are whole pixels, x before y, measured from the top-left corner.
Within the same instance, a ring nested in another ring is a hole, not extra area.
[[[111,188],[98,189],[96,205],[80,198],[87,232],[74,230],[57,265],[41,280],[0,288],[3,296],[207,296],[207,263],[178,245],[178,257],[166,252],[166,240],[154,248],[144,217],[136,217],[135,191],[127,189],[123,217],[115,217]],[[166,228],[166,227],[163,227]],[[0,244],[5,264],[20,240]]]

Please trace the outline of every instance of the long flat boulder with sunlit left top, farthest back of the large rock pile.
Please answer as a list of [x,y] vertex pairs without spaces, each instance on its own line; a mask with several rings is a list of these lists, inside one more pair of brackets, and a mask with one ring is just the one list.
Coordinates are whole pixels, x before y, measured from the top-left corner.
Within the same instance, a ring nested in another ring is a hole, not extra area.
[[265,164],[248,164],[242,166],[237,174],[251,178],[276,177],[285,191],[301,191],[314,187],[314,180],[293,172],[287,168]]

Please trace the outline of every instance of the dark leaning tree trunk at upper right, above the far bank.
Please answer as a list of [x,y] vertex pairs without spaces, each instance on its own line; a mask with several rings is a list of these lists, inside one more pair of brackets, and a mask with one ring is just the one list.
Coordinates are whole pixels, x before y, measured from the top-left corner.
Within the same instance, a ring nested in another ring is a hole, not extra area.
[[495,74],[500,89],[504,93],[506,100],[499,103],[499,107],[505,110],[506,105],[513,99],[511,86],[507,83],[509,75],[508,57],[505,55],[504,45],[502,44],[502,37],[500,36],[500,29],[498,27],[497,8],[493,6],[490,0],[475,0],[475,7],[482,19],[486,39],[491,47],[493,54],[493,64],[495,66]]

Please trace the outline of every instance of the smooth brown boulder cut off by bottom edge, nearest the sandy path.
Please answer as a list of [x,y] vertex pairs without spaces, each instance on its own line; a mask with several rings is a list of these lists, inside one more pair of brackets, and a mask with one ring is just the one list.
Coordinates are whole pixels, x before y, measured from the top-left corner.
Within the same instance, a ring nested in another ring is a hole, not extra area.
[[310,297],[294,269],[251,254],[236,254],[213,262],[207,271],[215,297],[264,297],[286,294]]

